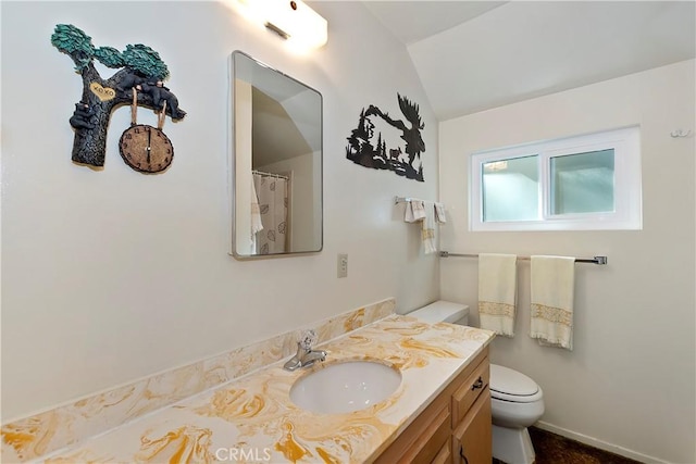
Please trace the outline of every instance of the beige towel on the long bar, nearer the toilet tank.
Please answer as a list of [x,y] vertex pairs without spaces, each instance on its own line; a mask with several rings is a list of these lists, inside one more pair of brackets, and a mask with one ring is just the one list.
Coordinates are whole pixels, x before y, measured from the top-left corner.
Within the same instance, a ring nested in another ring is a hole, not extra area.
[[514,337],[518,290],[514,254],[478,255],[478,317],[481,328]]

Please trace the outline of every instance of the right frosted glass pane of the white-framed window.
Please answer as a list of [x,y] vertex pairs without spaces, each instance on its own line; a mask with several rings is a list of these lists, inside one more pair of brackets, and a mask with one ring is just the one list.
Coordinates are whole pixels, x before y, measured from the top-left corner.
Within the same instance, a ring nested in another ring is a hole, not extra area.
[[614,211],[613,149],[550,158],[551,214]]

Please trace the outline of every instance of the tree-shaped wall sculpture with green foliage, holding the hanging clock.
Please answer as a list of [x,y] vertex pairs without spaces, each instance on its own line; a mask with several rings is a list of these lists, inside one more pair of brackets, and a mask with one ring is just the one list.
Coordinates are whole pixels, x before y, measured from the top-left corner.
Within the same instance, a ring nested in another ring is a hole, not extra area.
[[[173,121],[186,115],[178,108],[176,96],[163,85],[170,75],[166,64],[150,47],[128,45],[124,51],[95,47],[91,37],[71,24],[57,25],[51,43],[73,60],[83,78],[83,95],[70,118],[75,129],[72,155],[75,163],[103,166],[111,113],[133,102],[134,88],[137,105],[164,111]],[[96,70],[95,60],[120,71],[104,79]]]

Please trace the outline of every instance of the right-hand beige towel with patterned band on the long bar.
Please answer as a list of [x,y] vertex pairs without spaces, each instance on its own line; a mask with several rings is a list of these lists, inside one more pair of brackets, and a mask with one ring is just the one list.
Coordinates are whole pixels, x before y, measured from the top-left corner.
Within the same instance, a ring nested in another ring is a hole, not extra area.
[[575,259],[532,256],[531,283],[530,337],[572,351]]

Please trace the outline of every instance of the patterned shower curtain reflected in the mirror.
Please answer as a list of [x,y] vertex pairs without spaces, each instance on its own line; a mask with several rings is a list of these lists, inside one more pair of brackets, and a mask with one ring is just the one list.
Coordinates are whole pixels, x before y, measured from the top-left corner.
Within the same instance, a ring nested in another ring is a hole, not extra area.
[[285,253],[289,230],[289,176],[260,171],[253,171],[252,175],[258,200],[257,209],[252,196],[252,249],[256,254]]

